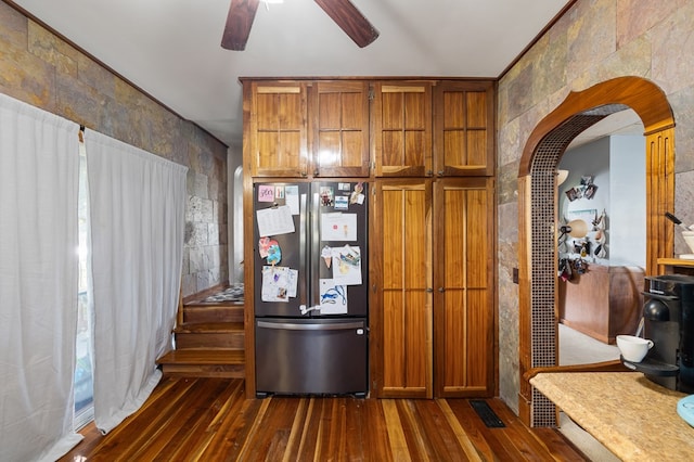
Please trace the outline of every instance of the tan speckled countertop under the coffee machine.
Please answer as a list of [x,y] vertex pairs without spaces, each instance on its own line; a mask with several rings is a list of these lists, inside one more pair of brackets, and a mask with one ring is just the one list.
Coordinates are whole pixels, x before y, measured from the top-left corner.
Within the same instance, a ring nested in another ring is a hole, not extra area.
[[686,395],[641,372],[541,372],[530,384],[625,461],[694,460],[694,428],[677,413]]

